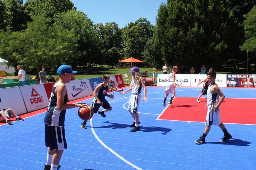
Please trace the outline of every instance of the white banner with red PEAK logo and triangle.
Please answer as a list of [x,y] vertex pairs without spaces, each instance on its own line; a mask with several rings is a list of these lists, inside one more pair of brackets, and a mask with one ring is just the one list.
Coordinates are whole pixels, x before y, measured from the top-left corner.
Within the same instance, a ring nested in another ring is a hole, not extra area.
[[47,107],[49,100],[43,84],[20,86],[20,91],[28,112]]

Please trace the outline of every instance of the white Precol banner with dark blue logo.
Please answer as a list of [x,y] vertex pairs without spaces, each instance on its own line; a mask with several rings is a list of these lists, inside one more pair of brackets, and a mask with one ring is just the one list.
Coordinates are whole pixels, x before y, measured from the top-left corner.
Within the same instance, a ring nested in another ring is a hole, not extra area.
[[71,80],[66,83],[66,88],[69,101],[92,95],[89,79]]

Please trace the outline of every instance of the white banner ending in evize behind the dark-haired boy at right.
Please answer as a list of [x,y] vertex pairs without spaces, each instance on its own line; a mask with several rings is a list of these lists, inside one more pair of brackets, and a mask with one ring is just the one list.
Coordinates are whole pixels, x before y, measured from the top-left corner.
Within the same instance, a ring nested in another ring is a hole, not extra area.
[[[191,87],[196,87],[199,82],[203,81],[206,78],[206,74],[191,74]],[[226,87],[226,74],[217,74],[215,78],[215,83],[219,87]],[[198,85],[202,87],[204,83]]]

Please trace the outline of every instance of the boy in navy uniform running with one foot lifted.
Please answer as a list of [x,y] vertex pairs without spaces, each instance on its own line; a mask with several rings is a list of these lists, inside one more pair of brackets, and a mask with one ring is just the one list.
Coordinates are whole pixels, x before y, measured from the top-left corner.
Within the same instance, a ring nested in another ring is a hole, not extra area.
[[[107,94],[108,92],[108,83],[109,83],[110,77],[107,74],[102,75],[102,83],[100,83],[93,91],[93,99],[92,99],[92,108],[93,113],[99,113],[102,117],[106,117],[104,112],[108,112],[112,110],[112,107],[108,103],[108,101],[105,99],[105,96],[114,99],[113,94]],[[98,111],[99,108],[103,107],[104,109],[101,111]],[[84,121],[80,126],[82,129],[87,129],[85,124],[87,121]]]

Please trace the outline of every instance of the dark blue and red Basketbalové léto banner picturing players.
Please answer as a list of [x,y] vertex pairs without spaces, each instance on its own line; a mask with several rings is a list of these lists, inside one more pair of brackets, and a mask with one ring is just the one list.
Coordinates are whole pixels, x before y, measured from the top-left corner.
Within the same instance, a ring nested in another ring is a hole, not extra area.
[[255,74],[227,74],[227,87],[255,87]]

